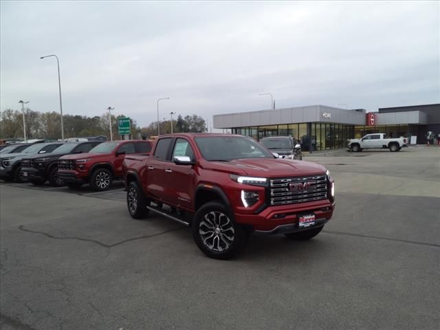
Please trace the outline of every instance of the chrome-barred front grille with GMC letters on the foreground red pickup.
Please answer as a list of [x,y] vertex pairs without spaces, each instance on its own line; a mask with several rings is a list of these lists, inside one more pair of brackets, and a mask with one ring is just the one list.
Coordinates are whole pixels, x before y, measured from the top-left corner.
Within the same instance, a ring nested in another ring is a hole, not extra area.
[[327,199],[327,175],[270,180],[270,204],[284,205]]

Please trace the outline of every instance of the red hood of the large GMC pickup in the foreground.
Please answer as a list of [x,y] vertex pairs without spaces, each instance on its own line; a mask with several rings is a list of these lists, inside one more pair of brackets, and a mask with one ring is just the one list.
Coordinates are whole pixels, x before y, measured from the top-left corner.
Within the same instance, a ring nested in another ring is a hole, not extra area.
[[292,159],[250,158],[230,162],[203,162],[203,168],[250,177],[297,177],[323,174],[324,166]]

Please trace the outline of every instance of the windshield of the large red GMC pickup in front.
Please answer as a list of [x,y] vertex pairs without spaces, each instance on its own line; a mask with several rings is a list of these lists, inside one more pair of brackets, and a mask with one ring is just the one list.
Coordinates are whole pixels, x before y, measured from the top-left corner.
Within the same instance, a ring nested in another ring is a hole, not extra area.
[[274,158],[261,144],[244,136],[196,137],[195,142],[204,159],[228,162],[243,158]]

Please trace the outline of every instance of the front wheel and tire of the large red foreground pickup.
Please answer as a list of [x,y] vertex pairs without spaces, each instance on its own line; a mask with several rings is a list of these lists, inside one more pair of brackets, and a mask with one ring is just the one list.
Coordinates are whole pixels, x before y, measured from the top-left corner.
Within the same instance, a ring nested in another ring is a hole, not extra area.
[[249,234],[243,226],[235,223],[228,208],[217,201],[210,201],[195,213],[192,237],[206,256],[227,260],[243,250]]

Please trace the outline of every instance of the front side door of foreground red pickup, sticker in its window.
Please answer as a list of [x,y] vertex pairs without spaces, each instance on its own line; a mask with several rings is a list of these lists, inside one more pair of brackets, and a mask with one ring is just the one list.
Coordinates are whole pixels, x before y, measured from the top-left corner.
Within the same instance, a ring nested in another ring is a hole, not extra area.
[[[188,156],[195,160],[194,151],[188,140],[177,138],[170,159],[175,156]],[[182,208],[192,209],[192,199],[195,196],[195,170],[192,165],[177,165],[169,162],[165,165],[166,188],[165,195],[169,203]]]

